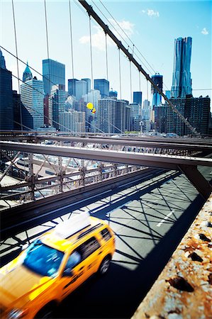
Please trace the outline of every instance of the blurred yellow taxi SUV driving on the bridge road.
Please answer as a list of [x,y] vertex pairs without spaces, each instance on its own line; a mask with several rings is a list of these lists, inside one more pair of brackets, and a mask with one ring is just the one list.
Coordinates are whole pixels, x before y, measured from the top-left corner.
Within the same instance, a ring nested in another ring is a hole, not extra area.
[[0,269],[0,318],[52,318],[89,276],[106,274],[114,252],[104,220],[84,212],[58,224]]

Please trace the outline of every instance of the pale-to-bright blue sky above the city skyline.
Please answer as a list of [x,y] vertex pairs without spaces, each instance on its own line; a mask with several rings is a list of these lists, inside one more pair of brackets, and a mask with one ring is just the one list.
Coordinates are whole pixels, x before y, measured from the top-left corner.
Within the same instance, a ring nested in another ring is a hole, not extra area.
[[[163,75],[164,91],[170,90],[172,86],[174,39],[190,36],[193,96],[211,97],[211,1],[87,2],[147,74],[151,76],[159,72]],[[71,0],[70,7],[72,23],[69,19],[69,0],[13,0],[18,58],[23,62],[28,61],[30,67],[42,74],[42,60],[48,58],[49,51],[52,60],[65,64],[66,89],[67,79],[72,79],[73,74],[77,79],[91,79],[93,74],[93,79],[107,78],[110,88],[118,91],[118,98],[131,102],[132,92],[141,90],[143,100],[151,101],[150,83],[147,83],[143,74],[130,65],[122,52],[119,65],[117,46],[105,36],[92,18],[90,42],[87,12],[78,0]],[[0,1],[0,28],[1,47],[16,55],[12,0]],[[1,48],[1,51],[6,60],[6,68],[16,77],[19,72],[22,79],[26,65],[19,61],[17,71],[16,58],[4,49]],[[32,72],[33,76],[42,79],[40,74],[33,70]],[[13,89],[18,90],[18,81],[14,77]]]

